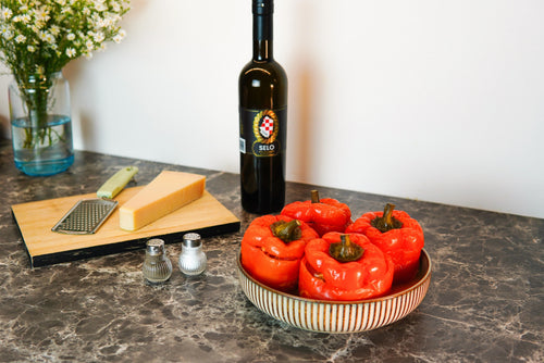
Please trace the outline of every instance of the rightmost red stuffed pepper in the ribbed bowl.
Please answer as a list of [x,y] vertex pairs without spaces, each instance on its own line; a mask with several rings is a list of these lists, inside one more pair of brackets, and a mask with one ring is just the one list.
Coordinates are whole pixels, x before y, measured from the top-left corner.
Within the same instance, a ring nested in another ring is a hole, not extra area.
[[362,214],[346,228],[346,233],[366,235],[395,263],[394,284],[411,280],[419,271],[419,259],[424,245],[423,229],[418,221],[404,211],[394,211],[387,203],[384,212]]

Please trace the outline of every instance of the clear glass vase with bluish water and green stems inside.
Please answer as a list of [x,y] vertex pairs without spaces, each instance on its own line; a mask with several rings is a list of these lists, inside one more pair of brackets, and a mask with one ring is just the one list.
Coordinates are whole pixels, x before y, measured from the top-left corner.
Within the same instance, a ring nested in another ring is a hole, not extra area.
[[74,148],[70,85],[62,72],[12,82],[9,100],[15,166],[32,176],[66,171]]

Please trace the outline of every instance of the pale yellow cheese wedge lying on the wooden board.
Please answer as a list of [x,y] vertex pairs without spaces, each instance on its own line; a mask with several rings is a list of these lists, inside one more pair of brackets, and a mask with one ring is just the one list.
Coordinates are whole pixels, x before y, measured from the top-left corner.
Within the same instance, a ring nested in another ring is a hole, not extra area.
[[188,204],[205,191],[206,176],[163,171],[119,209],[120,227],[139,229]]

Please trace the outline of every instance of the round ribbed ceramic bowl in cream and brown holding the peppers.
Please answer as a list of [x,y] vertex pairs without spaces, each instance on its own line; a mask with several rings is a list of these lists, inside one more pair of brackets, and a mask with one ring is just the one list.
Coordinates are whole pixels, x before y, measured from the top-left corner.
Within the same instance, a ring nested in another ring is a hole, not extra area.
[[281,322],[311,331],[358,333],[397,322],[421,303],[431,283],[431,259],[423,249],[412,281],[394,287],[387,296],[358,301],[312,300],[272,289],[244,270],[239,254],[238,277],[249,301]]

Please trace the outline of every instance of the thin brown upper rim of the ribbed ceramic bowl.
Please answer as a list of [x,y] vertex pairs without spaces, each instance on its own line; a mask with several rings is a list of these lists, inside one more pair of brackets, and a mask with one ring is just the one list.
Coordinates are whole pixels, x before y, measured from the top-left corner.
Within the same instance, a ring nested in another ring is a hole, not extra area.
[[385,301],[385,300],[390,300],[390,299],[395,299],[399,296],[403,296],[403,295],[406,295],[408,293],[409,291],[411,290],[415,290],[417,288],[419,288],[421,285],[425,284],[425,281],[431,277],[431,272],[432,272],[432,262],[431,262],[431,256],[429,255],[429,253],[425,251],[425,249],[421,249],[421,255],[420,255],[420,265],[424,265],[423,264],[423,261],[426,260],[426,271],[424,272],[419,272],[418,273],[418,277],[417,279],[415,279],[413,281],[409,283],[408,287],[399,290],[399,291],[395,291],[393,293],[388,293],[388,295],[383,295],[381,297],[378,297],[378,298],[371,298],[371,299],[363,299],[363,300],[322,300],[322,299],[310,299],[310,298],[304,298],[304,297],[300,297],[300,296],[297,296],[297,295],[293,295],[293,293],[288,293],[288,292],[283,292],[283,291],[280,291],[280,290],[276,290],[272,287],[269,287],[264,284],[262,284],[261,281],[258,281],[257,279],[255,279],[245,268],[244,266],[242,265],[242,252],[238,251],[238,255],[236,258],[236,262],[237,262],[237,265],[238,265],[238,271],[240,271],[244,276],[249,279],[251,283],[254,283],[255,285],[258,285],[260,288],[262,289],[265,289],[268,290],[269,292],[272,292],[272,293],[276,293],[276,295],[280,295],[280,296],[283,296],[285,298],[288,298],[288,299],[295,299],[295,300],[300,300],[300,301],[304,301],[304,302],[307,302],[307,303],[323,303],[323,304],[343,304],[343,305],[353,305],[353,304],[366,304],[366,303],[372,303],[372,302],[379,302],[379,301]]

